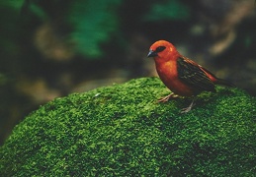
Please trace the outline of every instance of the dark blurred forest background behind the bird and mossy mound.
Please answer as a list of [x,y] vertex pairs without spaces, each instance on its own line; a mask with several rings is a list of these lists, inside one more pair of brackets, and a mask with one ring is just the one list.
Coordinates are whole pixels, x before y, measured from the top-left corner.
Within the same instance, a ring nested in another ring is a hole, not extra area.
[[254,0],[0,2],[0,145],[45,102],[156,76],[149,46],[187,57],[256,95]]

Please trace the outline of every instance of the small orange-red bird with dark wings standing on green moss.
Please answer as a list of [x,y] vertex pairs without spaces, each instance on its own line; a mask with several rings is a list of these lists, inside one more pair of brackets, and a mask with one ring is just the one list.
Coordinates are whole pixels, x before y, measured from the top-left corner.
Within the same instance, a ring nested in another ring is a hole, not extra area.
[[[173,92],[159,99],[159,102],[168,101],[171,97],[179,95],[194,96],[202,91],[215,91],[214,85],[233,87],[231,83],[216,78],[209,70],[181,55],[175,46],[166,40],[153,43],[147,57],[154,58],[160,79]],[[182,113],[189,112],[193,104],[194,99]]]

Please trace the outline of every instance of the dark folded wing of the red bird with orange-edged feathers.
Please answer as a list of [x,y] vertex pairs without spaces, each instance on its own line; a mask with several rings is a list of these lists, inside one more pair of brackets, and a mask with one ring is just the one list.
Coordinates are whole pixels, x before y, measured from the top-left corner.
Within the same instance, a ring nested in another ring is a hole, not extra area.
[[197,63],[185,57],[177,60],[178,76],[182,82],[195,91],[215,91],[213,82]]

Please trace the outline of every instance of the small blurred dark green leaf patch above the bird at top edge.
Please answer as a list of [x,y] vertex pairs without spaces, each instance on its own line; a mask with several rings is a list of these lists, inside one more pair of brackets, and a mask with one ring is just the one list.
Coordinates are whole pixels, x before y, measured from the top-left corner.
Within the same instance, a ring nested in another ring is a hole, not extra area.
[[142,20],[154,22],[164,20],[186,21],[190,18],[191,9],[179,0],[170,0],[168,2],[156,2],[152,4],[151,9]]

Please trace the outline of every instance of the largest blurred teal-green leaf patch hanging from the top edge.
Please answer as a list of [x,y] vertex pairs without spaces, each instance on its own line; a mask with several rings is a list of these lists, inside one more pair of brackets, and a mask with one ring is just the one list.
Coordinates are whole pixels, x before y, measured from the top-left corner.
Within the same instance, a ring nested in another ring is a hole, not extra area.
[[100,44],[119,30],[117,8],[122,0],[77,0],[71,6],[68,17],[73,27],[71,41],[78,53],[96,58],[103,55]]

